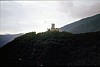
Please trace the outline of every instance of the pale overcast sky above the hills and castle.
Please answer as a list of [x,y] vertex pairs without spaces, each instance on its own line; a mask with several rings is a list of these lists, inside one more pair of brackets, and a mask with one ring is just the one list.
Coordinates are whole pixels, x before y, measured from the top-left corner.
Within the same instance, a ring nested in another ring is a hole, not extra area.
[[99,0],[0,1],[0,34],[44,32],[100,14]]

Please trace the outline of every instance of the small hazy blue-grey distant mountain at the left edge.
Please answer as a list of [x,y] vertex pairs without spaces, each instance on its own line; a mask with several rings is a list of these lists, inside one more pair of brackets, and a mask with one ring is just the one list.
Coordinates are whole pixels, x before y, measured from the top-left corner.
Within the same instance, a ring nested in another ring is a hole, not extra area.
[[4,46],[8,42],[12,41],[14,38],[20,36],[22,34],[7,34],[7,35],[0,35],[0,47]]

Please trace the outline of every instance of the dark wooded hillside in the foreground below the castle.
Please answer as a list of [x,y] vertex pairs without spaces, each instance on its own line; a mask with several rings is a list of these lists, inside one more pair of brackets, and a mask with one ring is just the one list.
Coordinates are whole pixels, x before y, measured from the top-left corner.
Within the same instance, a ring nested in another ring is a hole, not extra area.
[[98,66],[100,32],[35,32],[0,48],[0,66]]

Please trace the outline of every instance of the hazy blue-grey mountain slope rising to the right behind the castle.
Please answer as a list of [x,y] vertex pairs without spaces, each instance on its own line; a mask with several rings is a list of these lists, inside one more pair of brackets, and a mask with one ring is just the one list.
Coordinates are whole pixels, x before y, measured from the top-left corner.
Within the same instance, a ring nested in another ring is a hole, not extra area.
[[86,33],[100,31],[100,14],[84,18],[60,28],[71,33]]

